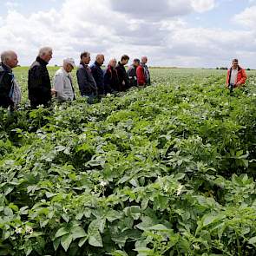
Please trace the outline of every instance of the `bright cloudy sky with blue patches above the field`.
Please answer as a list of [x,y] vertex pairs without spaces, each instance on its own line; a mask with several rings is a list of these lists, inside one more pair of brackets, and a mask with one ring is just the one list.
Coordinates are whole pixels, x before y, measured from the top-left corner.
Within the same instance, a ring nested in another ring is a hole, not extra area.
[[148,56],[152,66],[256,69],[256,0],[0,0],[0,51],[29,65],[42,46],[51,64],[79,62],[82,50],[106,60]]

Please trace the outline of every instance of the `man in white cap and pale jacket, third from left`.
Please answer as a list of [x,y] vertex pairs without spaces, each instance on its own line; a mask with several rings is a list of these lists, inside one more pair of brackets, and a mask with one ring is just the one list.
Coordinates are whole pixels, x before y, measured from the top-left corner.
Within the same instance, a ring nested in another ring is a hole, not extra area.
[[63,60],[63,66],[56,72],[54,77],[54,89],[56,90],[56,99],[58,102],[75,100],[75,90],[71,71],[75,68],[75,61],[72,58]]

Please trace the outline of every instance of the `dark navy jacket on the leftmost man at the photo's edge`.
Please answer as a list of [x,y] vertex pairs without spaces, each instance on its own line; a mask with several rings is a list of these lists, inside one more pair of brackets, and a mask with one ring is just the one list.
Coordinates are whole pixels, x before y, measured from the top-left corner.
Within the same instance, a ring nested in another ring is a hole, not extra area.
[[12,107],[14,103],[10,100],[10,89],[13,84],[13,75],[9,67],[0,63],[0,107]]

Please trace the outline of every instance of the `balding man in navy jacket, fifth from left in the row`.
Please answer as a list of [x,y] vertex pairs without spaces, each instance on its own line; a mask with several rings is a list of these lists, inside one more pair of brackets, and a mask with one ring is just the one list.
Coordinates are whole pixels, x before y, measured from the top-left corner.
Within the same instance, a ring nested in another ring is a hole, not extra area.
[[104,74],[101,68],[104,61],[105,61],[104,56],[102,54],[99,54],[96,56],[96,60],[94,64],[91,65],[90,67],[92,75],[94,76],[94,79],[98,88],[99,97],[102,97],[103,95],[105,95]]

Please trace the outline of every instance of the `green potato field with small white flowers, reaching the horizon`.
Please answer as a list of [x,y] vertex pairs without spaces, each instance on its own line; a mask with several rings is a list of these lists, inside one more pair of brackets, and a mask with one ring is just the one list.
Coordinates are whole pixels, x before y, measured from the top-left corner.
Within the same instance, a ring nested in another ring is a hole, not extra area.
[[[57,68],[49,68],[51,78]],[[151,69],[153,84],[0,109],[0,255],[256,255],[256,72]]]

